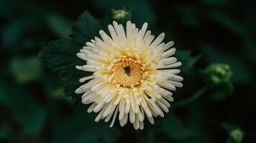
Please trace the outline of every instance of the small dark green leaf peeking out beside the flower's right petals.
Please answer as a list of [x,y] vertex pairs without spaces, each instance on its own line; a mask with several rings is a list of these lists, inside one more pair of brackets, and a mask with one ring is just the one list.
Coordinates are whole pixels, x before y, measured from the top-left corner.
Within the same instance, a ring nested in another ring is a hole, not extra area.
[[186,74],[190,73],[193,65],[196,64],[196,61],[201,57],[201,55],[191,56],[191,51],[189,50],[179,50],[175,56],[182,62],[182,66],[180,66],[180,68]]

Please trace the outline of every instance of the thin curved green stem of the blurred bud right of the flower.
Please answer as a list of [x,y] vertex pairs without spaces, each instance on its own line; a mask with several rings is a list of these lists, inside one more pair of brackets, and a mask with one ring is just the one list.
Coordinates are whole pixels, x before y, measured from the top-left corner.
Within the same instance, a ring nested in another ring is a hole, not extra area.
[[206,92],[206,89],[208,89],[208,86],[204,86],[201,89],[198,90],[198,92],[196,92],[195,94],[193,94],[191,97],[189,97],[188,99],[184,99],[180,102],[177,102],[174,107],[184,107],[187,104],[190,104],[191,102],[196,101],[196,99],[198,99],[199,97],[201,97],[204,92]]

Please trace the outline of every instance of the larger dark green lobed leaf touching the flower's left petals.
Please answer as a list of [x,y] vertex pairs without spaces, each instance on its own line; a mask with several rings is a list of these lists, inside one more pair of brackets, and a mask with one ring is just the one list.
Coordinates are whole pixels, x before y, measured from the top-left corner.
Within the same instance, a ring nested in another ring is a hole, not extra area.
[[48,68],[65,78],[64,91],[68,97],[75,96],[75,90],[81,85],[78,79],[89,74],[89,72],[76,69],[76,65],[82,65],[86,62],[76,56],[79,49],[81,47],[74,44],[73,41],[61,39],[52,41],[39,54]]

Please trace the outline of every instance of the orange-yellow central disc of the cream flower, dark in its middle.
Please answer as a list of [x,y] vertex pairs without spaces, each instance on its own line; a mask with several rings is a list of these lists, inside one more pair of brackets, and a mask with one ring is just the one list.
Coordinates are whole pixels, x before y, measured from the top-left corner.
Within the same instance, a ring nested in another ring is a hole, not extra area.
[[141,61],[122,57],[114,60],[111,83],[122,87],[134,87],[144,79],[144,67]]

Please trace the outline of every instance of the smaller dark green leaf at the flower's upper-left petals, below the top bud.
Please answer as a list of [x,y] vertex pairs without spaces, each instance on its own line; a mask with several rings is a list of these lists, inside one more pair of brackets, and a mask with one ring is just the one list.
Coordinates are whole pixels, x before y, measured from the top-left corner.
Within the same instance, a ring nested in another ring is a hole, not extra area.
[[86,41],[90,41],[94,36],[99,35],[101,25],[99,21],[94,19],[88,11],[83,12],[78,17],[78,21],[73,25],[73,34],[71,38],[78,44],[86,44]]

